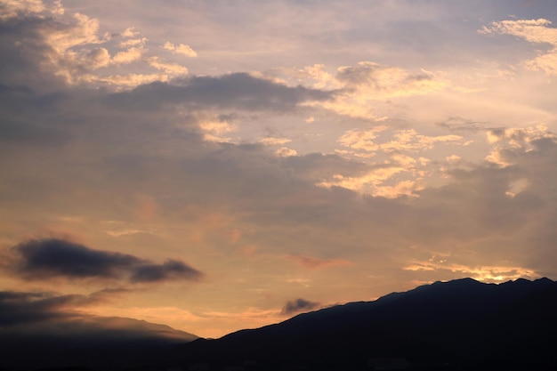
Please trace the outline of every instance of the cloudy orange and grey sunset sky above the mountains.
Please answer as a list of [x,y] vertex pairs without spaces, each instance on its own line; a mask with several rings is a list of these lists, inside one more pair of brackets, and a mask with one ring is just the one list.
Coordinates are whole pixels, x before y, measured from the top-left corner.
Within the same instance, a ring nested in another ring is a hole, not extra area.
[[219,337],[557,278],[553,0],[0,0],[0,55],[3,308]]

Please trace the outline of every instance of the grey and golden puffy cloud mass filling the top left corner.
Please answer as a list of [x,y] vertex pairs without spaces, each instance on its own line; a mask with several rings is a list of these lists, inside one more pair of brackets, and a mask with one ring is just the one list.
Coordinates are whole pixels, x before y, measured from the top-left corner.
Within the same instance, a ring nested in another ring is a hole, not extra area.
[[[25,81],[51,91],[60,85],[91,84],[123,89],[188,72],[149,52],[148,39],[134,28],[103,32],[100,20],[79,12],[66,16],[59,2],[52,9],[41,1],[3,3],[7,13],[0,17],[0,43],[10,54],[0,62],[4,83]],[[127,69],[130,66],[133,69]],[[18,73],[22,67],[27,67],[29,76]],[[154,74],[154,70],[162,73]]]

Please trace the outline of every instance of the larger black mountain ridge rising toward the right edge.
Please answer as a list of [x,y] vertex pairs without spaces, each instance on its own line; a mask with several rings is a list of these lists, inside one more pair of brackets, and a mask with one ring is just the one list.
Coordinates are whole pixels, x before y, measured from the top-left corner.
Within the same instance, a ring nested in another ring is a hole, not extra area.
[[[536,298],[536,308],[532,308],[529,302]],[[543,343],[530,328],[545,328],[546,334],[557,329],[554,321],[545,326],[554,310],[557,284],[549,278],[497,285],[464,278],[387,294],[373,302],[349,302],[303,313],[279,324],[240,330],[213,343],[198,346],[193,342],[190,348],[198,359],[218,354],[232,360],[240,354],[245,358],[258,354],[312,369],[327,369],[338,359],[360,359],[351,362],[351,367],[361,369],[364,359],[374,357],[411,359],[422,368],[428,364],[515,367],[528,363]],[[533,311],[545,314],[536,318]],[[524,357],[489,340],[514,327],[517,331],[509,336],[518,340],[509,349],[521,351]],[[535,340],[527,342],[526,338]],[[539,362],[553,361],[552,357]],[[328,361],[319,362],[319,358]]]

